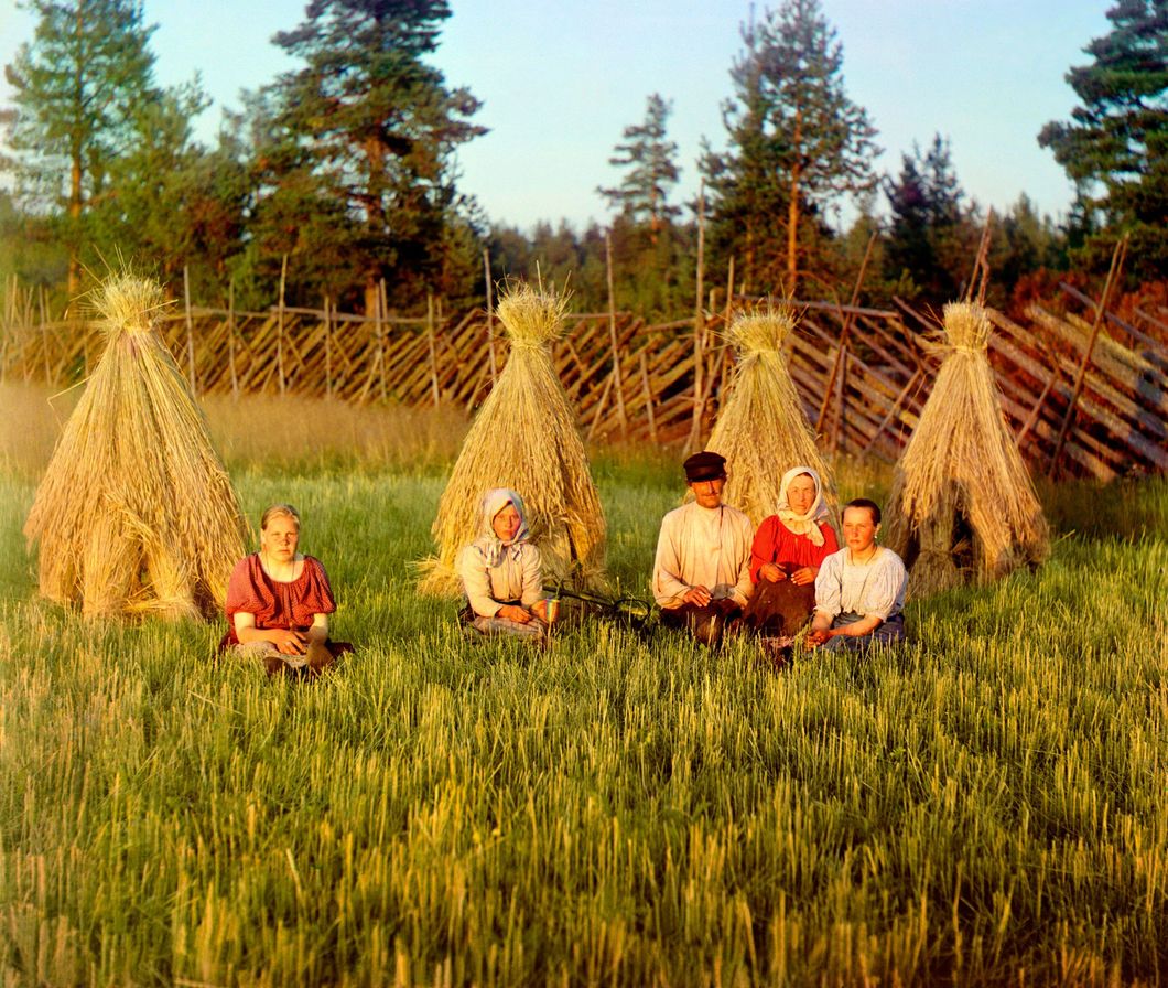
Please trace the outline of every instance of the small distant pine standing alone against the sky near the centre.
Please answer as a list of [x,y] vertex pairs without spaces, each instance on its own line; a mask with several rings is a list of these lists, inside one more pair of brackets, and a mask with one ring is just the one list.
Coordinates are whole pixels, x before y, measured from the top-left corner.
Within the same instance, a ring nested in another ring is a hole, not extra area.
[[654,92],[645,108],[645,120],[624,130],[624,143],[618,144],[610,165],[627,168],[616,188],[598,188],[609,205],[634,223],[647,222],[653,243],[662,227],[681,209],[668,202],[670,189],[677,184],[674,159],[677,145],[666,139],[666,122],[672,104]]

